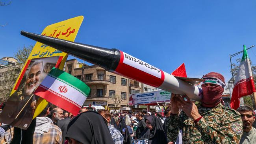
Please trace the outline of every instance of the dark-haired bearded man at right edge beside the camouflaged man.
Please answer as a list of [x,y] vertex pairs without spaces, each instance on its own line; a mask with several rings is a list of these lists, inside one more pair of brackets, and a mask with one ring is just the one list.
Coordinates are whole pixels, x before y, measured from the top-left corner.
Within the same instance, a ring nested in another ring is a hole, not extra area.
[[241,106],[237,109],[243,121],[243,135],[240,144],[256,144],[256,129],[252,127],[255,121],[254,111],[248,106]]

